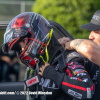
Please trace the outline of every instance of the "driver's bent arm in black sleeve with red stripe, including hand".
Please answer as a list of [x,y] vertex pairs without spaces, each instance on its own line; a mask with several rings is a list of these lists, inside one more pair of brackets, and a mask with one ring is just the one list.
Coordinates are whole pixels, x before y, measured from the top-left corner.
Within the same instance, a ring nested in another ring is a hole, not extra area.
[[66,94],[78,98],[92,98],[93,82],[86,72],[82,63],[78,63],[80,58],[68,63],[65,73],[60,73],[53,66],[46,63],[40,68],[39,74],[51,79]]

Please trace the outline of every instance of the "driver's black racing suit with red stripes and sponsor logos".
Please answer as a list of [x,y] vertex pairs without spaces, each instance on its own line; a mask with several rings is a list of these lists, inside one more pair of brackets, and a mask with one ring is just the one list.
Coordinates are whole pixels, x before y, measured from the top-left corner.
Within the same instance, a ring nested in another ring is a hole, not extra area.
[[[52,35],[48,46],[49,64],[44,69],[39,82],[39,90],[52,92],[45,95],[46,100],[87,99],[93,95],[93,82],[84,68],[84,59],[75,51],[64,51],[57,39]],[[46,57],[43,57],[46,60]],[[41,59],[39,67],[44,65]],[[41,88],[43,86],[43,89]],[[36,91],[33,87],[31,91]],[[41,95],[38,96],[41,99]]]

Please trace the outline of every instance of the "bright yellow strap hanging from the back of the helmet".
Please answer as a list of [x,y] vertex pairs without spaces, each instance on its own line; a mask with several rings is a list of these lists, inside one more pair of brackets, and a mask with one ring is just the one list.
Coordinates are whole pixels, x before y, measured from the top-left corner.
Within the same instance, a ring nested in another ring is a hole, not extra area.
[[47,45],[46,45],[46,48],[45,48],[45,53],[46,53],[47,61],[45,61],[44,58],[43,58],[43,56],[40,55],[40,58],[42,58],[42,60],[43,60],[44,63],[46,63],[46,62],[49,61],[49,54],[48,54],[47,46],[50,43],[50,40],[51,40],[51,37],[52,37],[52,32],[53,32],[53,29],[51,29],[50,33],[47,36],[47,38],[49,38],[49,41],[47,42]]

